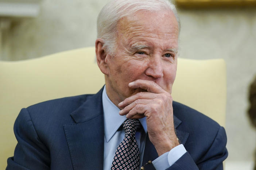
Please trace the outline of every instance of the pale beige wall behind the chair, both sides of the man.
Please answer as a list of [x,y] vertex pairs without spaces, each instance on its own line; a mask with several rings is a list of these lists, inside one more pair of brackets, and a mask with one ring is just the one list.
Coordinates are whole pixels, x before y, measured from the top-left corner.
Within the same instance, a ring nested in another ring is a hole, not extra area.
[[[106,1],[43,0],[37,18],[16,21],[3,32],[0,60],[93,46],[96,17]],[[256,131],[249,126],[246,112],[248,84],[256,74],[256,10],[179,10],[179,15],[181,57],[226,61],[228,161],[252,160]]]

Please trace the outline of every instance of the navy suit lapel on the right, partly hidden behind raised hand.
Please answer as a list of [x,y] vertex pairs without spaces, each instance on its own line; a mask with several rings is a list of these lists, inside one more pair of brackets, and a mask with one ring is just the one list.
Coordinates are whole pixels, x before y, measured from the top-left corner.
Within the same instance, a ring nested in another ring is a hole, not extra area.
[[[174,128],[175,128],[176,135],[179,139],[179,142],[185,145],[187,138],[189,137],[189,133],[181,130],[177,130],[178,126],[182,123],[182,121],[179,120],[176,116],[173,116],[173,118],[174,118]],[[154,161],[156,158],[158,158],[157,151],[155,149],[155,146],[151,143],[147,134],[142,166],[145,165],[148,161]],[[152,164],[150,164],[150,165],[146,165],[145,169],[155,170],[155,167]]]

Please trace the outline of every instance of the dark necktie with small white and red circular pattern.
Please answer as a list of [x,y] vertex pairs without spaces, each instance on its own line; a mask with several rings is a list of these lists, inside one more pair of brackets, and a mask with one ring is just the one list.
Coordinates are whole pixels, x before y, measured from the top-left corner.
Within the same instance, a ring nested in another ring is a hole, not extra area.
[[139,170],[140,151],[135,139],[135,133],[140,128],[137,119],[127,119],[123,123],[125,137],[117,146],[111,170]]

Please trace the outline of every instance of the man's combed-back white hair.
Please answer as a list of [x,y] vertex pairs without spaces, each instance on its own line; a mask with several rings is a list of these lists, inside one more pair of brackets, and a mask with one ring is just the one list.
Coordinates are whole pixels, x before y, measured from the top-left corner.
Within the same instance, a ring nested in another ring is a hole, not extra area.
[[168,0],[111,0],[100,11],[97,18],[97,37],[103,39],[103,49],[114,56],[116,51],[117,22],[125,16],[137,11],[171,10],[178,22],[180,21],[175,5]]

